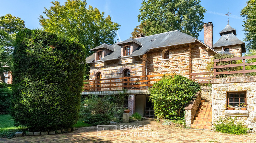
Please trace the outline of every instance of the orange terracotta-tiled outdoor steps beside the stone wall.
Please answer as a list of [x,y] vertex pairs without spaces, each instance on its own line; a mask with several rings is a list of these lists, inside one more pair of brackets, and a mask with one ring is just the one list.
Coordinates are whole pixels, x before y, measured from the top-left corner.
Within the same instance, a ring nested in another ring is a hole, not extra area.
[[204,102],[201,100],[201,104],[197,110],[194,123],[191,124],[191,128],[194,129],[212,129],[212,103]]

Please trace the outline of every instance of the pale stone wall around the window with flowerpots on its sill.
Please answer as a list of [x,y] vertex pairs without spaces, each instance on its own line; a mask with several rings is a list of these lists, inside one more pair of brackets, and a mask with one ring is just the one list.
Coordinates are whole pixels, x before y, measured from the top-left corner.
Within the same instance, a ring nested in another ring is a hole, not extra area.
[[[228,111],[227,92],[246,91],[246,111]],[[212,79],[212,123],[226,116],[237,116],[248,128],[256,130],[256,77],[230,77]],[[240,113],[241,112],[241,113]]]

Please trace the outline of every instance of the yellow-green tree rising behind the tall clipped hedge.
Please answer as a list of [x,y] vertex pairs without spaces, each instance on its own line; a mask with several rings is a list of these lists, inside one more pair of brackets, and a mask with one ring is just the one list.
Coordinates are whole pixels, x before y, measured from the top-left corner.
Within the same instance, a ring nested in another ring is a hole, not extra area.
[[86,46],[86,54],[90,49],[103,43],[114,44],[114,37],[118,25],[112,22],[111,17],[104,18],[104,12],[89,6],[86,9],[86,0],[67,0],[65,5],[58,1],[52,2],[53,6],[40,15],[40,25],[47,32],[78,38]]

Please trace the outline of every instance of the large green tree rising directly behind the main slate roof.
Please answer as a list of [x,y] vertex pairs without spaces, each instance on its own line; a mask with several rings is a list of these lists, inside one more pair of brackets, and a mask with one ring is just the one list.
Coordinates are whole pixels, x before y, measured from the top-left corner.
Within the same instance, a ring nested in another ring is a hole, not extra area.
[[148,35],[179,30],[198,37],[205,9],[200,0],[143,0],[138,21]]

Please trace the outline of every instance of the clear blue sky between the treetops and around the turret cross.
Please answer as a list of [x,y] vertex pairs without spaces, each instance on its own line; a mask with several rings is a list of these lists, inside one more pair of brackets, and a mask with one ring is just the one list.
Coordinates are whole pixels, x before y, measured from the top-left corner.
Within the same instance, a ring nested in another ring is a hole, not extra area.
[[[12,14],[25,21],[27,28],[41,28],[39,25],[39,15],[43,15],[44,7],[52,6],[52,0],[0,0],[0,16]],[[66,0],[58,0],[61,5]],[[105,16],[110,15],[112,20],[121,25],[118,34],[122,41],[131,36],[133,29],[139,25],[138,15],[142,0],[87,0],[87,5],[97,7],[99,11],[105,12]],[[229,8],[229,24],[236,29],[237,37],[244,38],[243,18],[240,12],[245,6],[246,0],[201,0],[201,5],[207,10],[204,14],[203,22],[213,23],[213,43],[217,42],[219,32],[227,25],[227,10]],[[203,40],[203,31],[200,32],[199,40]]]

